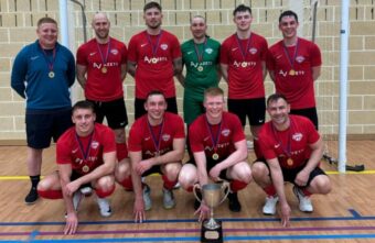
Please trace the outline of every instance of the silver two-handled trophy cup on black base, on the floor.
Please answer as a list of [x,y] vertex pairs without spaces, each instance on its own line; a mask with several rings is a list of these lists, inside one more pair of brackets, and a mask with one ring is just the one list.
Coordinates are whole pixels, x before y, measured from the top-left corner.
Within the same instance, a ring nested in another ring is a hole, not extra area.
[[210,219],[202,222],[201,229],[201,242],[219,243],[223,242],[223,228],[219,220],[214,219],[214,208],[219,206],[229,194],[229,183],[224,181],[223,184],[206,184],[202,190],[202,199],[196,195],[199,185],[194,186],[195,198],[210,208]]

